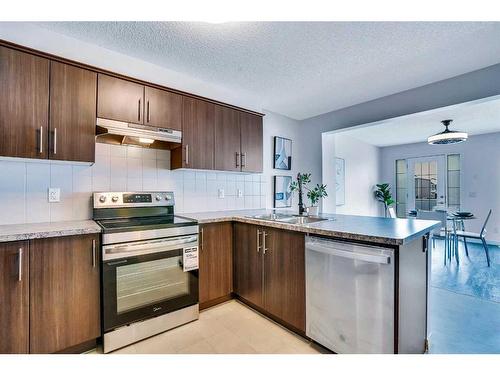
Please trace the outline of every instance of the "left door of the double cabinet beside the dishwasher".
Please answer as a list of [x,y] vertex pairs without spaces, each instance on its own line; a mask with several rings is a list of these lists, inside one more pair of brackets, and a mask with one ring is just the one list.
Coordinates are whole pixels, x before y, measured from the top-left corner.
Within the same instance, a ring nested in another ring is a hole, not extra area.
[[234,291],[253,304],[263,307],[262,251],[258,248],[255,225],[234,223]]

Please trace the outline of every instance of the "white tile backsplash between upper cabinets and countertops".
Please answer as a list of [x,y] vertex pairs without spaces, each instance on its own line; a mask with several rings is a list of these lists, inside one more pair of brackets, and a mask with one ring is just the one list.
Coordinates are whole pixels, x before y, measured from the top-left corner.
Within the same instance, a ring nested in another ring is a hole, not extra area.
[[[178,213],[261,208],[266,202],[261,175],[172,171],[167,150],[97,143],[93,165],[11,160],[0,158],[0,224],[89,219],[94,191],[171,190]],[[48,203],[49,187],[61,189],[60,202]]]

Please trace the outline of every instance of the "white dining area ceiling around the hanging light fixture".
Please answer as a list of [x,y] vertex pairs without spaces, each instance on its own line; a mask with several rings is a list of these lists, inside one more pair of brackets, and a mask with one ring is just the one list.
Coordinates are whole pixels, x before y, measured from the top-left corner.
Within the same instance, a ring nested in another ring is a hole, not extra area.
[[469,136],[499,132],[500,98],[439,108],[360,126],[338,134],[379,147],[427,142],[428,136],[445,129],[441,120],[446,119],[453,120],[450,130],[465,131]]

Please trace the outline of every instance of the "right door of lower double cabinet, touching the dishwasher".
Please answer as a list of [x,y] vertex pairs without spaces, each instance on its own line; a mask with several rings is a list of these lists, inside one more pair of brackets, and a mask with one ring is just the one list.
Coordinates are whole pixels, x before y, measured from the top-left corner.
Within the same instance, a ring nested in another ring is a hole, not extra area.
[[295,328],[305,331],[304,234],[264,228],[264,308]]

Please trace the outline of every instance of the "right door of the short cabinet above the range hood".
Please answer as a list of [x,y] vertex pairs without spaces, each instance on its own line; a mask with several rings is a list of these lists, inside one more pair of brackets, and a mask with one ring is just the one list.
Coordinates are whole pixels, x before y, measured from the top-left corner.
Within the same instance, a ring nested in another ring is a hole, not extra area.
[[145,106],[144,124],[182,129],[182,95],[146,86]]

